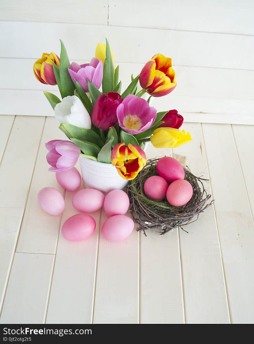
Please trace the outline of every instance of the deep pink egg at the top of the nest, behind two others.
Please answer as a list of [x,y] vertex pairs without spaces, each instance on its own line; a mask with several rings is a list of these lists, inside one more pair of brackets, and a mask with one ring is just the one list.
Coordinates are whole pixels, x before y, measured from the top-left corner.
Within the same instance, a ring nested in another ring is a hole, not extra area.
[[185,177],[183,166],[179,161],[171,157],[160,158],[156,164],[156,170],[158,175],[169,183]]

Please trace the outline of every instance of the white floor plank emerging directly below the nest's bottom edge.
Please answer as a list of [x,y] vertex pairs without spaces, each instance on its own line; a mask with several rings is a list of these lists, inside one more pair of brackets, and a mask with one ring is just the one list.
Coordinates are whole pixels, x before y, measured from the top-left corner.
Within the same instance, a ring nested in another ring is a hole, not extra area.
[[[147,158],[172,155],[149,143]],[[184,323],[178,229],[164,236],[140,232],[140,323]]]

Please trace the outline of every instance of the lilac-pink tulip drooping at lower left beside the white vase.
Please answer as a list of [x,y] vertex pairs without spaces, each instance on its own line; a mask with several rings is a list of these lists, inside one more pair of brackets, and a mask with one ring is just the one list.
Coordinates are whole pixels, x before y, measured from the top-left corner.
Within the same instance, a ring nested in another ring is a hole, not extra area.
[[51,165],[51,172],[70,170],[78,161],[80,149],[70,141],[52,140],[45,143],[45,146],[49,151],[46,159]]

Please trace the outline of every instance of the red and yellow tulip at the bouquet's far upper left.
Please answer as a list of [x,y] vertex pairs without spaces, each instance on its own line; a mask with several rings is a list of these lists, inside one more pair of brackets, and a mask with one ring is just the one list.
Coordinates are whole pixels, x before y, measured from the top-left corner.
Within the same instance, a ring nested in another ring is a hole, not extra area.
[[41,58],[33,65],[33,73],[42,84],[57,84],[51,61],[59,68],[60,58],[54,53],[43,53]]

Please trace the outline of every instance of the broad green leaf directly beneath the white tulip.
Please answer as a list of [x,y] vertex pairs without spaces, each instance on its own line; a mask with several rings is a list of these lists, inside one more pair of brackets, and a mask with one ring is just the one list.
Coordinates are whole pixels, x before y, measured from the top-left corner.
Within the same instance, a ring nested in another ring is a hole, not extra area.
[[91,129],[79,128],[69,123],[60,124],[59,129],[65,133],[68,139],[74,138],[77,140],[95,143],[100,148],[104,145],[99,135],[97,135]]

